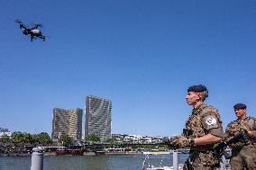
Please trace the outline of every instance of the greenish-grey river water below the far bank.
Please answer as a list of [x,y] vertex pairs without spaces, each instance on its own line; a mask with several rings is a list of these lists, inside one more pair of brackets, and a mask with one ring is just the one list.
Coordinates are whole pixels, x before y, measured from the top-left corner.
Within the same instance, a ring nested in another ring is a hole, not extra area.
[[[145,155],[47,156],[43,170],[142,170]],[[187,155],[178,154],[178,164]],[[151,155],[145,166],[172,166],[172,155]],[[0,157],[0,170],[30,170],[31,157]]]

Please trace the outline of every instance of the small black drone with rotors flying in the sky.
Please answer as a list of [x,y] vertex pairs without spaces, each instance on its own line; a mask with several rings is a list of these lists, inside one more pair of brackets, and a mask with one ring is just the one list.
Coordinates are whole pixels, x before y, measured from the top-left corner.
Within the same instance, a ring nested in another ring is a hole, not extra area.
[[40,38],[43,41],[45,40],[45,36],[41,34],[41,30],[39,29],[40,27],[42,27],[41,24],[36,23],[36,24],[34,24],[34,26],[32,28],[29,29],[24,26],[23,22],[21,22],[19,20],[16,20],[16,22],[20,24],[20,29],[23,30],[24,35],[31,36],[31,41],[34,38]]

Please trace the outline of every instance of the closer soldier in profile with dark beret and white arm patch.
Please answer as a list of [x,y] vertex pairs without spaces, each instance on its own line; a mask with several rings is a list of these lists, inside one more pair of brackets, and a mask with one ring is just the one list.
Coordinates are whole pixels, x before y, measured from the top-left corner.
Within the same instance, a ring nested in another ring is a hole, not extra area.
[[187,104],[193,107],[186,122],[186,128],[169,145],[176,148],[190,148],[184,169],[210,170],[220,166],[212,148],[222,140],[224,132],[218,111],[204,103],[208,91],[205,85],[193,85],[187,89]]

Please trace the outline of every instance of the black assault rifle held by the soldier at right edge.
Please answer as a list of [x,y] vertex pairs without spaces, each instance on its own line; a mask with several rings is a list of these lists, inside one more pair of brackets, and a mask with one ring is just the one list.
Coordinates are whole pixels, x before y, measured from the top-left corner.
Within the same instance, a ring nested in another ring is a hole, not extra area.
[[[215,154],[218,157],[221,157],[222,155],[225,155],[224,149],[227,148],[228,145],[233,144],[235,142],[242,142],[246,143],[249,141],[249,135],[247,130],[242,130],[240,133],[237,135],[233,136],[230,139],[222,141],[220,144],[218,144],[214,149],[215,149]],[[227,158],[227,157],[226,157]]]

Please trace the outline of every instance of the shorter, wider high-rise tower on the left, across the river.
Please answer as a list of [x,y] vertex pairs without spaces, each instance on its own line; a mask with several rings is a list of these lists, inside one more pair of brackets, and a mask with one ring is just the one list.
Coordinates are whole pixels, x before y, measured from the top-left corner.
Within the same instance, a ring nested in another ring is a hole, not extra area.
[[61,134],[67,134],[72,139],[82,138],[82,109],[53,109],[52,116],[52,139],[59,139]]

